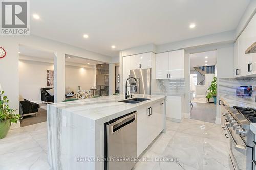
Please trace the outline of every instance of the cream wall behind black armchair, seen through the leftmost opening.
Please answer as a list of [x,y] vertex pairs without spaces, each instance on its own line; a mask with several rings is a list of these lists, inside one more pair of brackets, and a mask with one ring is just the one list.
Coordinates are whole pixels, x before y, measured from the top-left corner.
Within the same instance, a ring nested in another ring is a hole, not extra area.
[[54,65],[19,60],[19,94],[30,101],[41,101],[40,89],[47,87],[47,70],[54,70]]

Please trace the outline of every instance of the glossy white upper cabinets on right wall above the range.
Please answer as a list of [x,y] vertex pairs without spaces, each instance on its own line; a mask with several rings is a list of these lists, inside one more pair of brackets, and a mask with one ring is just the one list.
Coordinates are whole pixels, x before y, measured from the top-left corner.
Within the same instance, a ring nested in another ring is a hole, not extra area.
[[234,43],[234,77],[249,77],[256,74],[256,53],[245,54],[246,49],[256,42],[256,15]]

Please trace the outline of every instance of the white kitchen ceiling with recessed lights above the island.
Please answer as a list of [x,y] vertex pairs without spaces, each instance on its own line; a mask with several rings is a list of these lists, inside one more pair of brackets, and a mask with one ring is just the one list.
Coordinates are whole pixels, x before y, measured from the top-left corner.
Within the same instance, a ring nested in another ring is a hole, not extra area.
[[[234,30],[249,0],[35,0],[31,34],[109,56],[139,45],[156,45]],[[190,23],[196,27],[190,29]],[[89,38],[84,39],[83,34]],[[116,49],[112,50],[111,46]]]

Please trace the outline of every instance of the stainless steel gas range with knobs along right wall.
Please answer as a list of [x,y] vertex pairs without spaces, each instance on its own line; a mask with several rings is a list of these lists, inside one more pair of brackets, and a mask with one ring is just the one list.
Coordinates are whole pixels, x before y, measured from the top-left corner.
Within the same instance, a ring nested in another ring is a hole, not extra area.
[[253,169],[253,139],[250,122],[256,123],[256,110],[227,107],[225,127],[229,134],[230,165],[233,169]]

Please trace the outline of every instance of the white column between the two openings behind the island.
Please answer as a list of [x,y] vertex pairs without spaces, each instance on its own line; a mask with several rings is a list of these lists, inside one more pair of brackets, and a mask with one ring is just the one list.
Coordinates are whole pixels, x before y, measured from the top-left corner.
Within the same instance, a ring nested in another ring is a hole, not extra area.
[[54,102],[65,100],[65,53],[56,52],[54,57]]

